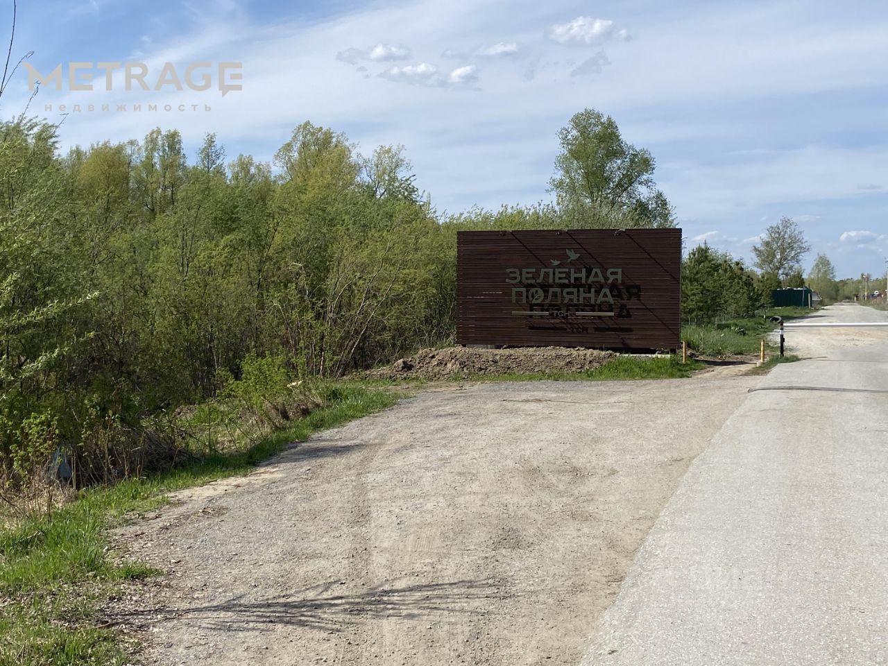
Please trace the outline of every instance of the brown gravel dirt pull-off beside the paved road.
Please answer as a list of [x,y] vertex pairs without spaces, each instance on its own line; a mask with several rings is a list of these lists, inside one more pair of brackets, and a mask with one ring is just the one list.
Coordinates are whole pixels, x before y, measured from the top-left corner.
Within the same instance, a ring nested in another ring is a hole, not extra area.
[[147,663],[575,664],[756,377],[453,386],[180,493]]

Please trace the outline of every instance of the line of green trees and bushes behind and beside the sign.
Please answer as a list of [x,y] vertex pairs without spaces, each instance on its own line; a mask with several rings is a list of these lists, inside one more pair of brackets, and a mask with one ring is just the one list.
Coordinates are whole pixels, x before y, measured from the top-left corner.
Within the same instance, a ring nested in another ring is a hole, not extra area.
[[[586,109],[558,139],[553,202],[444,215],[403,147],[365,155],[312,123],[273,163],[226,160],[214,134],[189,159],[160,129],[62,154],[50,123],[0,124],[4,479],[200,403],[250,360],[341,377],[452,342],[458,231],[675,225],[653,156],[612,118]],[[791,220],[777,231],[760,274],[691,250],[686,318],[749,313],[791,283],[807,247]]]

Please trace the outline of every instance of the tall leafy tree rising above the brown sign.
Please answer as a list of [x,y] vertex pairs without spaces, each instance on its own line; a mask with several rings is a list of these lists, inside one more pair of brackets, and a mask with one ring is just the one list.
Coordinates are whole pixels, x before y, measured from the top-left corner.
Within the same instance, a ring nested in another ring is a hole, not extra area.
[[579,213],[605,224],[623,218],[621,226],[674,226],[671,206],[654,186],[654,157],[623,139],[612,117],[587,108],[561,128],[558,138],[550,185],[568,217]]

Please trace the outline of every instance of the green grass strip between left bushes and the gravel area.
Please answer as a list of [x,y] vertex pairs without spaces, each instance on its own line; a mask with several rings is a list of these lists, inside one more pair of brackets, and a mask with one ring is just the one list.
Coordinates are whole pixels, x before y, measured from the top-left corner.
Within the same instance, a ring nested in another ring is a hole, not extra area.
[[0,666],[115,665],[128,662],[120,636],[97,626],[119,583],[155,575],[115,561],[108,527],[167,502],[166,494],[248,472],[294,440],[390,407],[399,396],[354,382],[330,385],[326,404],[231,455],[213,455],[161,475],[82,491],[49,515],[0,531]]

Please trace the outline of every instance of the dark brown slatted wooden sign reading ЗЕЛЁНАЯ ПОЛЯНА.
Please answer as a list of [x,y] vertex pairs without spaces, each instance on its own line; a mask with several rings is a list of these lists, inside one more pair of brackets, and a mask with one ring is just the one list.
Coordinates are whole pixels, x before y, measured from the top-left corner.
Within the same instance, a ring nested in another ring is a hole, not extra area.
[[681,229],[456,234],[460,345],[677,349]]

